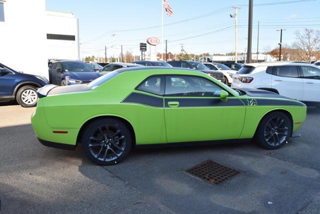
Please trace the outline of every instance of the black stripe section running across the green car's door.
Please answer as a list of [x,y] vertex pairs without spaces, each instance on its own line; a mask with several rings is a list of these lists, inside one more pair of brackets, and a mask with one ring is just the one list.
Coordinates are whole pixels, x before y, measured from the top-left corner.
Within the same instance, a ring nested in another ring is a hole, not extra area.
[[240,99],[227,99],[221,101],[219,98],[165,98],[165,107],[169,107],[169,101],[178,101],[179,107],[205,107],[205,106],[243,106]]

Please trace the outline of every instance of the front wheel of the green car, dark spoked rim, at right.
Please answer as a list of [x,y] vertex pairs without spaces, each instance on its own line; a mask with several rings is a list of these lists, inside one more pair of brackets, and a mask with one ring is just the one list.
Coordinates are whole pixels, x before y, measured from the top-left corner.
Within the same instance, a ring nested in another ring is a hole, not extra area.
[[267,114],[260,121],[254,139],[266,149],[277,149],[283,146],[292,132],[289,117],[275,111]]

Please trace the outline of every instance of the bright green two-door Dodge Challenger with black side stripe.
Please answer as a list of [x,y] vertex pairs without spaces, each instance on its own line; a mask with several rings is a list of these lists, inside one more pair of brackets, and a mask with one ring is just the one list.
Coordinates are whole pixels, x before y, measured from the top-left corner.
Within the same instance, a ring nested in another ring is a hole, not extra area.
[[201,71],[118,69],[88,84],[46,85],[31,116],[39,141],[74,149],[101,165],[133,146],[254,139],[267,149],[297,135],[302,102],[266,90],[232,89]]

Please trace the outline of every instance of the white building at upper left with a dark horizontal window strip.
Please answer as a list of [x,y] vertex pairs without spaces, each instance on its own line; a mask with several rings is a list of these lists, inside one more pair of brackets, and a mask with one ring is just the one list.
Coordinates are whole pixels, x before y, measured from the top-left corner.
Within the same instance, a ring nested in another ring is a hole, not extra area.
[[45,0],[0,0],[0,63],[48,77],[48,59],[79,59],[78,19]]

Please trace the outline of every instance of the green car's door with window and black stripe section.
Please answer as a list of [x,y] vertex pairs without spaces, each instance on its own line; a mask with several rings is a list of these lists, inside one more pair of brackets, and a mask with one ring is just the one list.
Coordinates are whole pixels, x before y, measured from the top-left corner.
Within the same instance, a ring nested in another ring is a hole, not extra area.
[[167,75],[164,92],[167,141],[238,138],[243,127],[245,106],[232,94],[227,101],[221,101],[217,93],[221,89],[204,77]]

